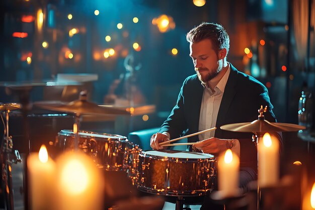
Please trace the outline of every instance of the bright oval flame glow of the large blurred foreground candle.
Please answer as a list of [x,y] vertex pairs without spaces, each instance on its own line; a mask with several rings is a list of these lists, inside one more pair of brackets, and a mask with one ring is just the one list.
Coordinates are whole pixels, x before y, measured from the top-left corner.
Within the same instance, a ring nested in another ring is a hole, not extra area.
[[69,194],[80,194],[88,186],[89,175],[86,167],[72,158],[64,165],[61,172],[61,184]]

